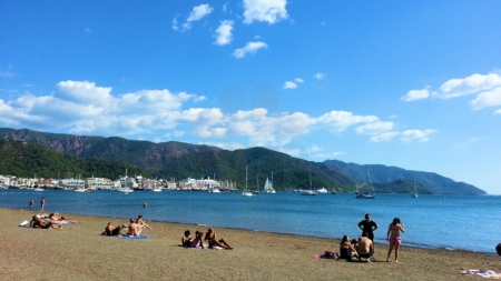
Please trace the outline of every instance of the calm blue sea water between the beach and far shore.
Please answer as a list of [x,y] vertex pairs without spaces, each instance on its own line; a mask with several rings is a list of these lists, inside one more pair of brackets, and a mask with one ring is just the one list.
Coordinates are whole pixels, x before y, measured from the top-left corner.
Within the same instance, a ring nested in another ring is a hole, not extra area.
[[[358,221],[365,213],[380,228],[375,241],[386,243],[386,231],[394,217],[405,224],[405,245],[465,249],[495,253],[501,242],[501,197],[377,194],[374,200],[353,194],[304,197],[296,192],[261,193],[242,197],[239,192],[118,191],[73,192],[26,190],[0,191],[0,205],[28,209],[33,199],[39,208],[46,198],[47,212],[116,217],[118,223],[144,214],[147,220],[240,228],[299,235],[357,238]],[[143,208],[144,202],[148,208]],[[29,218],[27,218],[29,219]],[[194,228],[195,229],[195,228]],[[193,232],[193,231],[191,231]]]

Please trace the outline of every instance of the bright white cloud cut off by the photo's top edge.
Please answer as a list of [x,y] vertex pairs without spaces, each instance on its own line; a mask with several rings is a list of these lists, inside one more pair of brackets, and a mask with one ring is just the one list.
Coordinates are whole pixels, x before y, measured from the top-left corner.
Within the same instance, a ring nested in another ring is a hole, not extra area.
[[263,21],[273,24],[287,19],[286,0],[244,0],[244,23]]

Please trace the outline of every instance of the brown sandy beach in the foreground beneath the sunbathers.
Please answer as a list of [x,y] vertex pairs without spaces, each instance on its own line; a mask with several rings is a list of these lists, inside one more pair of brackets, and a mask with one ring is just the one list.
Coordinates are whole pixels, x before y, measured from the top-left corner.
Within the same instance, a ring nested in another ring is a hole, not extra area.
[[[400,263],[386,262],[387,244],[376,244],[376,262],[314,258],[338,251],[340,240],[216,228],[234,250],[179,247],[187,229],[207,227],[146,221],[149,240],[101,235],[106,224],[126,219],[62,213],[78,224],[62,230],[21,228],[37,211],[0,209],[1,280],[481,280],[462,270],[501,272],[500,257],[460,250],[402,247]],[[405,244],[405,237],[403,237]],[[492,245],[495,247],[495,245]]]

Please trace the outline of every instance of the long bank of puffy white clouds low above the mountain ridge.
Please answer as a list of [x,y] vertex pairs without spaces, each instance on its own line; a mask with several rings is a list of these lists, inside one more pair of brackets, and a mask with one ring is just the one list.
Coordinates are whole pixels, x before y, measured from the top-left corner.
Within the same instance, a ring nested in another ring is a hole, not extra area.
[[[394,132],[394,123],[376,116],[331,111],[317,117],[303,112],[271,114],[264,108],[225,113],[218,108],[191,108],[203,96],[164,90],[139,90],[114,94],[111,87],[89,81],[61,81],[53,94],[22,94],[0,99],[0,122],[13,127],[58,130],[100,136],[145,136],[170,133],[176,138],[190,132],[206,140],[247,138],[248,143],[283,148],[295,138],[314,131],[342,133],[348,129],[370,136],[370,141],[426,141],[433,130]],[[205,98],[205,97],[204,97]],[[291,150],[291,149],[289,149]],[[318,147],[307,152],[318,152]],[[303,153],[305,150],[303,151]],[[318,153],[317,153],[318,154]]]

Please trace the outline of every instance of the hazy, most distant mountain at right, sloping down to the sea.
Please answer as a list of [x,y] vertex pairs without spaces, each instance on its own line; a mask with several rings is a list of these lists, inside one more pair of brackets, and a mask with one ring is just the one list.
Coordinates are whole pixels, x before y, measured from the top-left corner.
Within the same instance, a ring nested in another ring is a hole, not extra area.
[[[433,172],[411,171],[382,164],[361,165],[356,163],[345,163],[338,160],[326,160],[324,163],[341,169],[350,178],[358,182],[366,181],[369,171],[374,188],[377,188],[381,192],[412,192],[414,188],[411,182],[415,180],[416,185],[423,187],[422,192],[418,190],[419,193],[426,193],[425,190],[428,190],[435,194],[487,194],[485,191],[471,184],[455,182]],[[405,182],[406,187],[402,188],[402,184]]]

